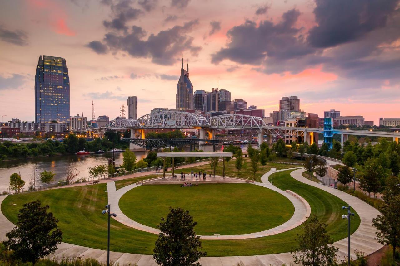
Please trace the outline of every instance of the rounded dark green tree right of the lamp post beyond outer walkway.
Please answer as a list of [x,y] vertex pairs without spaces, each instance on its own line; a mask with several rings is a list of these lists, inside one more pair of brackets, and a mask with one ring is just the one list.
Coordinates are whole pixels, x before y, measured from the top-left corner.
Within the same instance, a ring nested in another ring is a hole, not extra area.
[[386,171],[384,171],[383,167],[378,163],[377,159],[368,159],[364,167],[362,168],[361,178],[360,178],[360,187],[362,190],[368,192],[371,197],[371,192],[374,195],[382,189],[382,183],[384,179],[387,177]]

